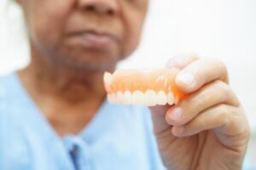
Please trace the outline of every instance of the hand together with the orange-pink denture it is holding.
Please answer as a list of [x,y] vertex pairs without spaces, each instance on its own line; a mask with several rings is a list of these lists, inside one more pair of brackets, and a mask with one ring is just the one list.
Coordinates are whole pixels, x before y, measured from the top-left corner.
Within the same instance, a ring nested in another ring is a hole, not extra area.
[[105,85],[112,103],[151,106],[168,169],[241,169],[249,127],[222,62],[184,55],[163,70],[106,73]]

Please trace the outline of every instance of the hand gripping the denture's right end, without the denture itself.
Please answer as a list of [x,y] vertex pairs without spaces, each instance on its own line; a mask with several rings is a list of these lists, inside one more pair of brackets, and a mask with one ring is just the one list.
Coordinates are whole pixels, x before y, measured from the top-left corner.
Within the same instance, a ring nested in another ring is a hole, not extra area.
[[249,126],[225,65],[193,54],[172,59],[168,67],[179,70],[175,84],[187,96],[177,105],[151,107],[166,167],[241,169]]

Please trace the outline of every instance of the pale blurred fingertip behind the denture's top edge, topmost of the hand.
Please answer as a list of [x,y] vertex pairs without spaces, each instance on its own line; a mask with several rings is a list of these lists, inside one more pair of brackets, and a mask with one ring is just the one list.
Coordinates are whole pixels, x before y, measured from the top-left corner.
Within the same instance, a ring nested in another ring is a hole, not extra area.
[[178,54],[169,60],[166,67],[172,68],[175,67],[178,70],[182,70],[184,67],[199,59],[199,55],[195,53],[190,54]]

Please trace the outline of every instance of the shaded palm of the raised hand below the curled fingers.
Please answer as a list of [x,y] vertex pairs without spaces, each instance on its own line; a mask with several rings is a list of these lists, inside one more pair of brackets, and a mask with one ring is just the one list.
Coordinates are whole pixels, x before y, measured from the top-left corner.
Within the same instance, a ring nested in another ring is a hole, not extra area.
[[[166,167],[169,167],[169,169],[241,168],[239,166],[244,154],[244,148],[242,147],[244,147],[244,143],[247,143],[246,138],[243,138],[243,136],[227,136],[219,133],[218,129],[204,131],[190,137],[177,138],[172,135],[172,127],[163,123],[164,117],[159,113],[153,113],[152,116],[154,116],[153,121],[159,122],[160,118],[162,119],[162,126],[154,123],[156,125],[154,131],[160,155]],[[240,144],[233,141],[240,141]],[[232,163],[234,160],[236,160],[237,165]],[[226,163],[233,164],[234,167],[225,167]]]

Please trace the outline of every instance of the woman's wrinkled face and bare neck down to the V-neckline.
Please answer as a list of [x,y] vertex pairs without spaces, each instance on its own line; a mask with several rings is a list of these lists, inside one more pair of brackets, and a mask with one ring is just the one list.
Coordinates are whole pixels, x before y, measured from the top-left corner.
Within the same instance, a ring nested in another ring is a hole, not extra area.
[[20,80],[56,133],[79,133],[106,96],[103,72],[137,48],[148,0],[17,1],[32,56]]

